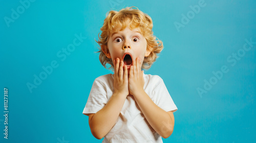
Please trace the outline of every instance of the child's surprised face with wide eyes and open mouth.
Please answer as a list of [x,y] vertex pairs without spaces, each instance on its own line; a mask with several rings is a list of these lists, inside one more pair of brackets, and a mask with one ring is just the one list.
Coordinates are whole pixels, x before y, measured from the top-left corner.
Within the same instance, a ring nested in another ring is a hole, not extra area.
[[141,60],[140,66],[142,66],[144,57],[151,53],[147,50],[146,39],[139,33],[138,28],[131,30],[126,27],[122,31],[111,33],[107,46],[109,55],[106,54],[106,56],[112,58],[113,61],[119,58],[127,66],[127,69],[131,67],[136,58]]

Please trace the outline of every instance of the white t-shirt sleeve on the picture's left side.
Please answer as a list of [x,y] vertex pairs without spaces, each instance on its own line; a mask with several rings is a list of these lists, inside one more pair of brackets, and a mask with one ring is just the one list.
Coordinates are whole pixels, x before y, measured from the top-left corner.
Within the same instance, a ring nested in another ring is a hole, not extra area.
[[107,102],[108,99],[106,97],[105,84],[95,79],[86,103],[86,107],[84,107],[82,113],[85,115],[89,115],[90,113],[96,113],[100,109],[102,109]]

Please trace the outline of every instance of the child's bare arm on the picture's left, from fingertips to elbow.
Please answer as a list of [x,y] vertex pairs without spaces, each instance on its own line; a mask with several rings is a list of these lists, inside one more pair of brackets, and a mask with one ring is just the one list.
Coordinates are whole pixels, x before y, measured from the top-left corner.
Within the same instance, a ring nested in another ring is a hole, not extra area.
[[[120,68],[119,68],[120,64]],[[89,114],[89,125],[94,137],[101,139],[115,125],[124,101],[129,94],[127,67],[123,71],[123,61],[114,61],[114,93],[109,102],[95,114]]]

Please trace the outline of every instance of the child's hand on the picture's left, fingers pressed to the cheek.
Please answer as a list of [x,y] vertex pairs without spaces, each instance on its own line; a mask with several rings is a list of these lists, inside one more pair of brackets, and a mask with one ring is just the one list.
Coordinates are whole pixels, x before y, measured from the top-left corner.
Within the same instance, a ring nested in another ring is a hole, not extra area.
[[123,69],[123,61],[119,58],[114,60],[114,72],[114,93],[128,96],[128,70],[126,65]]

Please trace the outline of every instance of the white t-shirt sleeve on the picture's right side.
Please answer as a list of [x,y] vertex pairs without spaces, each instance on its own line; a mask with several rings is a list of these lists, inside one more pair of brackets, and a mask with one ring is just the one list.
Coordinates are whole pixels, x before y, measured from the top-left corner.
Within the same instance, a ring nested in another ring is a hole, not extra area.
[[152,100],[155,102],[157,106],[165,110],[166,112],[168,111],[177,111],[177,107],[174,104],[174,101],[172,97],[170,97],[170,94],[162,80],[159,76],[155,76],[155,87],[153,88],[152,94]]

